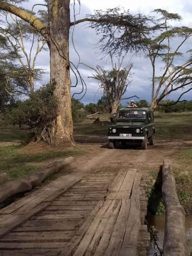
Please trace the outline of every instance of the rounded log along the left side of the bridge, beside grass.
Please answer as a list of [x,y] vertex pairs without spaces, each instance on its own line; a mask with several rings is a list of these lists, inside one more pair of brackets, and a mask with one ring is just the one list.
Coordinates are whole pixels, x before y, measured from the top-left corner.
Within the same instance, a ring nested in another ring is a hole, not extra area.
[[57,161],[47,166],[46,168],[36,172],[32,175],[26,177],[26,179],[12,180],[10,182],[6,182],[1,186],[0,191],[0,203],[4,202],[6,199],[10,198],[13,195],[18,193],[23,193],[31,190],[36,186],[40,186],[42,181],[45,180],[49,175],[59,172],[62,170],[67,164],[72,162],[73,157],[67,157],[63,161]]

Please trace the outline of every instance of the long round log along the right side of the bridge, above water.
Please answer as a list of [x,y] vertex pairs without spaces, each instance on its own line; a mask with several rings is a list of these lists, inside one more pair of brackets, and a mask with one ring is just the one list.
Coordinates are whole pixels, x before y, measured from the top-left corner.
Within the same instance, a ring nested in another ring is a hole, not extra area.
[[177,196],[175,178],[169,160],[164,160],[162,181],[163,204],[166,209],[163,255],[188,256],[185,212]]

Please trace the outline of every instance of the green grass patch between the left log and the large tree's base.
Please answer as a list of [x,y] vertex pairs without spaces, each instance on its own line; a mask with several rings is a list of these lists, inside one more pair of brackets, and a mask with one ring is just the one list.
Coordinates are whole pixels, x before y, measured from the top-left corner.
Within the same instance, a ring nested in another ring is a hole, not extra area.
[[[84,154],[83,147],[77,146],[66,150],[47,150],[45,152],[24,153],[21,146],[0,147],[0,173],[6,173],[7,180],[26,177],[40,169],[40,163],[57,157],[77,156]],[[37,164],[38,163],[38,164]]]

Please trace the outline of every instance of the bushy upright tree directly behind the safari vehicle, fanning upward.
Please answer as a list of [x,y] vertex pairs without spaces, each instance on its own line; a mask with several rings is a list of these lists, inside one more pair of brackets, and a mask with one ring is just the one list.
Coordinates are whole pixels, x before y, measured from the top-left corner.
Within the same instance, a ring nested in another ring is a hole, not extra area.
[[103,67],[97,66],[95,69],[95,75],[93,78],[99,81],[100,88],[104,90],[104,95],[108,98],[111,104],[111,113],[116,113],[120,100],[127,90],[127,86],[131,83],[128,81],[130,76],[132,64],[127,65],[127,67],[122,68],[122,62],[124,58],[120,60],[118,58],[118,63],[113,63],[113,58],[111,56],[112,70],[107,71]]

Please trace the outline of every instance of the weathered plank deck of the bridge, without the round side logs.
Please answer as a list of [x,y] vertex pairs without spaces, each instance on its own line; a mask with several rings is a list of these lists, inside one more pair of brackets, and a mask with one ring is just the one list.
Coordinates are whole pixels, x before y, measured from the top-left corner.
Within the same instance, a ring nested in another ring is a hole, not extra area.
[[[36,202],[29,195],[30,204],[24,204],[23,198],[4,208],[0,211],[0,255],[137,255],[141,177],[134,169],[90,173],[76,177],[75,182],[71,179],[73,186],[55,191],[57,196],[50,195],[51,189],[45,186],[49,200],[36,191]],[[32,214],[29,205],[33,205]],[[8,227],[9,218],[17,225]]]

